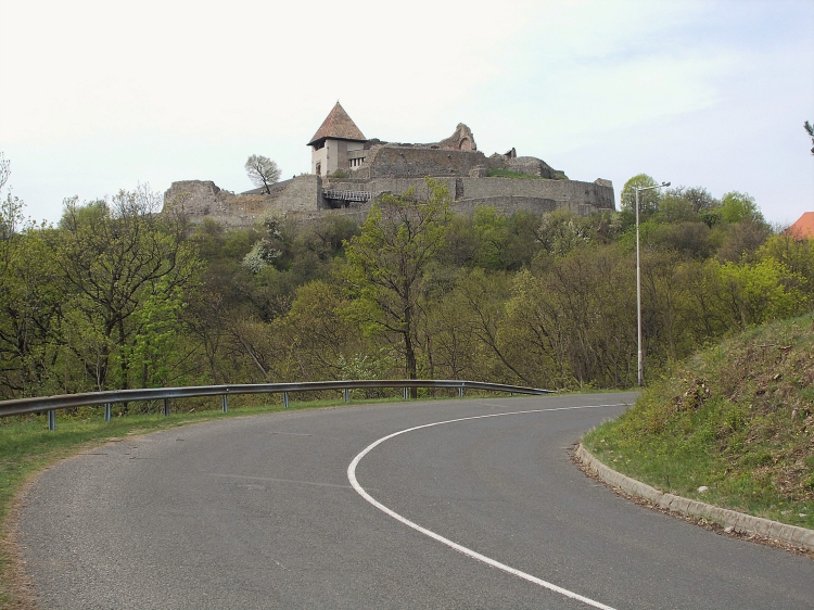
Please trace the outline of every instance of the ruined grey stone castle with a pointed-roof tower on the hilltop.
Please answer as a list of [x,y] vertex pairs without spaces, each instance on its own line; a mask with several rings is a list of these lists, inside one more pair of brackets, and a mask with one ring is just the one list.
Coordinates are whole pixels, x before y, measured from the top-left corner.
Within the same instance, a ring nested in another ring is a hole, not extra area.
[[173,182],[164,205],[182,205],[192,221],[211,217],[230,227],[252,226],[269,213],[307,220],[334,209],[364,219],[370,202],[382,193],[414,188],[416,196],[427,196],[429,176],[447,187],[454,208],[463,214],[479,205],[506,214],[567,207],[587,216],[614,209],[610,180],[569,180],[539,158],[517,156],[514,149],[487,157],[463,124],[449,138],[430,144],[368,140],[336,102],[307,145],[310,174],[278,182],[270,193],[255,189],[234,194],[212,181],[185,180]]

